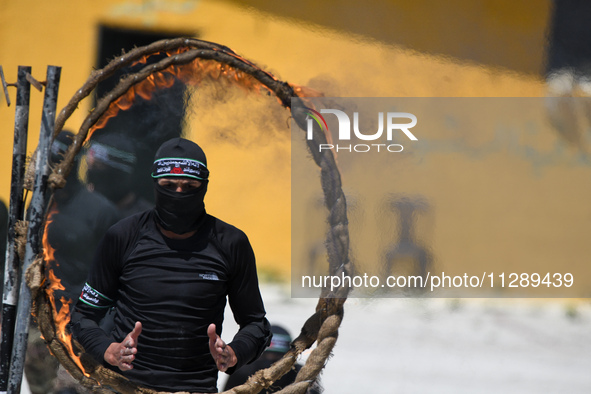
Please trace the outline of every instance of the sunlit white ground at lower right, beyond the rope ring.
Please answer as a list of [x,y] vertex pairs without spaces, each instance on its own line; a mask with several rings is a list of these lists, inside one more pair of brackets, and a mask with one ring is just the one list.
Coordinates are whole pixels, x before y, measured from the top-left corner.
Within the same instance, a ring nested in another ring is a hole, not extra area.
[[[295,337],[317,300],[262,292],[271,323]],[[235,330],[228,312],[222,338]],[[327,394],[591,393],[591,302],[349,299],[322,384]]]

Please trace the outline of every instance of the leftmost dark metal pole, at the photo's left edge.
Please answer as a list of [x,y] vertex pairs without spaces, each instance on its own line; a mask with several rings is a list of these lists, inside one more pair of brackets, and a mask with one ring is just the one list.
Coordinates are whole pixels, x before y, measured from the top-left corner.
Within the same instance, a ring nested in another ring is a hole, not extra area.
[[[12,150],[12,180],[10,185],[10,210],[6,259],[4,261],[4,291],[2,294],[2,342],[0,344],[0,392],[8,387],[10,354],[14,338],[14,318],[20,284],[20,261],[15,246],[15,225],[24,216],[24,178],[27,156],[27,132],[29,129],[29,98],[31,85],[26,75],[31,67],[19,66],[14,115],[14,145]],[[0,240],[3,242],[4,240]]]

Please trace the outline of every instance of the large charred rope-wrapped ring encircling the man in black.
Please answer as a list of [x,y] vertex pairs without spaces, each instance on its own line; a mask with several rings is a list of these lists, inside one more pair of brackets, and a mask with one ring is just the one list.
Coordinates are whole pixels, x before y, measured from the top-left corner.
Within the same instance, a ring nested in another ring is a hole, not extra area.
[[[162,51],[179,49],[182,49],[182,51],[166,57],[158,63],[147,65],[139,72],[123,78],[110,93],[98,102],[96,108],[84,120],[64,159],[54,167],[53,173],[50,176],[52,189],[63,187],[65,183],[64,179],[72,168],[74,157],[80,151],[89,130],[101,118],[105,111],[107,111],[109,106],[135,84],[143,81],[153,73],[166,70],[173,65],[184,65],[195,59],[204,59],[213,60],[239,70],[254,78],[269,89],[270,92],[274,93],[280,103],[290,108],[292,110],[292,116],[296,118],[296,121],[298,120],[297,109],[292,108],[291,100],[292,98],[301,98],[291,85],[277,80],[271,74],[263,71],[246,59],[241,58],[226,47],[190,38],[178,38],[174,40],[162,40],[145,47],[135,48],[126,54],[118,56],[105,68],[93,72],[87,82],[76,92],[66,107],[59,113],[55,123],[54,138],[62,130],[66,120],[78,107],[79,102],[87,97],[99,82],[113,75],[119,68],[136,62],[143,57]],[[301,124],[301,119],[298,123]],[[350,274],[353,270],[353,264],[349,260],[347,206],[342,191],[340,172],[333,153],[318,153],[318,145],[320,143],[326,143],[325,136],[321,134],[315,135],[314,139],[307,141],[307,143],[314,161],[321,169],[321,185],[325,195],[325,204],[329,210],[328,221],[330,229],[326,240],[329,271],[333,275],[340,274],[341,272]],[[36,266],[36,269],[39,269],[38,265]],[[34,277],[38,276],[35,275]],[[32,280],[32,282],[36,281]],[[30,286],[40,287],[39,283],[31,283]],[[283,358],[271,367],[255,373],[245,384],[234,387],[226,393],[254,394],[268,388],[275,380],[279,379],[294,366],[301,353],[310,348],[314,342],[317,342],[317,347],[312,351],[306,364],[301,368],[296,381],[281,391],[283,394],[305,392],[311,382],[317,379],[336,343],[338,328],[343,318],[343,304],[346,301],[348,293],[349,289],[345,287],[338,288],[333,292],[323,289],[318,300],[316,312],[304,323],[300,335],[292,342],[291,349]],[[36,292],[34,308],[38,317],[40,330],[52,353],[83,386],[95,391],[113,390],[122,394],[157,393],[156,391],[137,386],[122,375],[98,365],[90,356],[83,352],[79,344],[73,341],[74,349],[80,352],[80,361],[84,366],[85,372],[90,377],[86,376],[69,355],[69,352],[66,350],[67,347],[56,336],[52,306],[44,291]]]

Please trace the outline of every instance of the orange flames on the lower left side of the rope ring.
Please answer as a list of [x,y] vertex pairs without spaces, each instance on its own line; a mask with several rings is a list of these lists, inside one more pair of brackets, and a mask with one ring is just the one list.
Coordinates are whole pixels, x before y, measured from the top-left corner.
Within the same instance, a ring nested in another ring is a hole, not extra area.
[[68,351],[68,354],[70,355],[70,358],[72,359],[72,361],[76,363],[76,365],[78,365],[82,373],[84,373],[84,375],[86,376],[90,376],[84,370],[84,367],[80,362],[80,358],[76,356],[76,354],[74,353],[74,349],[72,347],[72,334],[68,333],[66,329],[66,326],[70,321],[70,304],[72,303],[72,300],[62,296],[60,298],[60,303],[62,304],[62,306],[59,309],[59,311],[57,310],[55,305],[55,291],[65,290],[65,287],[62,285],[61,280],[55,275],[55,273],[49,265],[51,262],[56,260],[55,249],[53,249],[49,244],[47,228],[53,221],[53,215],[55,215],[57,212],[57,207],[54,203],[51,209],[49,210],[49,214],[47,215],[45,231],[43,232],[43,260],[45,261],[46,268],[45,294],[47,295],[47,298],[49,299],[49,302],[52,307],[51,310],[53,313],[53,323],[55,325],[55,335],[57,339],[64,345],[64,347]]

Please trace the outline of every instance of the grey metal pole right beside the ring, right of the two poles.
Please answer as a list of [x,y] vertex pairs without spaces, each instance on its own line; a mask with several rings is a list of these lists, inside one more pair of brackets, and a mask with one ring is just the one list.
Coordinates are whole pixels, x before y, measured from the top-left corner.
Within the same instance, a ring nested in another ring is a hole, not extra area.
[[[35,183],[33,186],[31,204],[27,211],[29,228],[27,231],[23,272],[26,272],[31,266],[41,249],[40,240],[45,218],[45,207],[47,205],[45,192],[47,190],[47,179],[49,177],[49,149],[53,129],[55,127],[60,74],[61,67],[47,67],[47,85],[45,86],[43,116],[41,118],[41,131],[39,133],[39,145],[37,146],[35,163]],[[29,286],[27,286],[25,275],[21,275],[21,278],[14,344],[12,347],[10,373],[8,376],[9,394],[20,393],[25,363],[25,352],[27,350],[27,339],[29,337],[29,322],[31,320],[31,290],[29,289]]]

